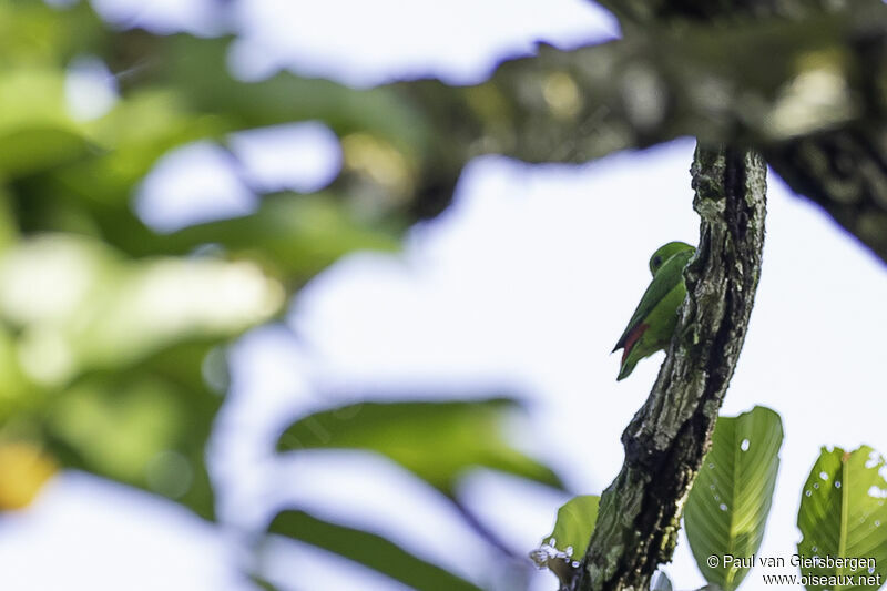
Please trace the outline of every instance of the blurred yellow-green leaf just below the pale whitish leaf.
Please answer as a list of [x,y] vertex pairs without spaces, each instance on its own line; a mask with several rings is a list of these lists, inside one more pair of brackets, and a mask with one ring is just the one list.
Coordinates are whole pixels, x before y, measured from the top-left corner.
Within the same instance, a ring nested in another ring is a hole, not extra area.
[[[187,375],[194,364],[183,363],[206,349],[173,349],[170,358],[124,374],[79,380],[45,418],[49,449],[68,467],[167,497],[212,519],[205,444],[222,399],[195,386],[200,375]],[[171,363],[173,356],[180,360]]]

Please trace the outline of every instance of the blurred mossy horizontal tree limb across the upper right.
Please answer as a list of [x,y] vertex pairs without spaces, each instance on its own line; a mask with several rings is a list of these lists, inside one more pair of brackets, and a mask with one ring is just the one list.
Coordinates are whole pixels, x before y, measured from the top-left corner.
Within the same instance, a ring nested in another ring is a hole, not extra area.
[[[502,63],[468,88],[395,86],[467,156],[587,162],[681,135],[775,145],[887,113],[887,8],[692,26]],[[430,119],[430,118],[429,118]]]

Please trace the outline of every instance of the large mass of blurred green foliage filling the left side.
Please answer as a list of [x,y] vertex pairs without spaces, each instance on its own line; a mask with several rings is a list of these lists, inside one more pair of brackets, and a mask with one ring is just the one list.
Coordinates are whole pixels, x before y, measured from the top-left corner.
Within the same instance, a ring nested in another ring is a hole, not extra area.
[[[207,353],[273,318],[343,254],[396,248],[405,224],[369,222],[327,191],[269,195],[251,215],[163,235],[134,213],[142,180],[179,146],[287,121],[409,137],[405,150],[422,141],[381,95],[290,75],[235,81],[227,41],[114,30],[85,3],[0,4],[0,442],[204,517],[204,447],[222,403],[202,376]],[[69,95],[83,59],[119,74],[92,119]]]

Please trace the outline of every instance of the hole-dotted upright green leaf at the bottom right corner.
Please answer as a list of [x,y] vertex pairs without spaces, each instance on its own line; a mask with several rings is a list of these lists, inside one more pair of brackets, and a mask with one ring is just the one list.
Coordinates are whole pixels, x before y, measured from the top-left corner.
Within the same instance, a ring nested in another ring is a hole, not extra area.
[[[884,471],[884,458],[868,446],[852,452],[822,449],[797,512],[804,536],[798,554],[810,560],[799,564],[801,574],[823,578],[809,581],[808,590],[871,590],[880,587],[878,577],[881,583],[887,578]],[[816,562],[815,557],[823,560]]]

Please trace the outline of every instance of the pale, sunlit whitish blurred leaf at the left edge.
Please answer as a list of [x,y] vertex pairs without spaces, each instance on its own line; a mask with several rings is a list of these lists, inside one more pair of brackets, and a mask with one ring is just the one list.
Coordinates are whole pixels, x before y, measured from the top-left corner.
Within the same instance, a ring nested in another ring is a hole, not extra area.
[[23,368],[43,386],[123,368],[181,342],[235,336],[275,314],[283,295],[252,263],[132,262],[64,234],[0,255],[0,319],[20,329]]

